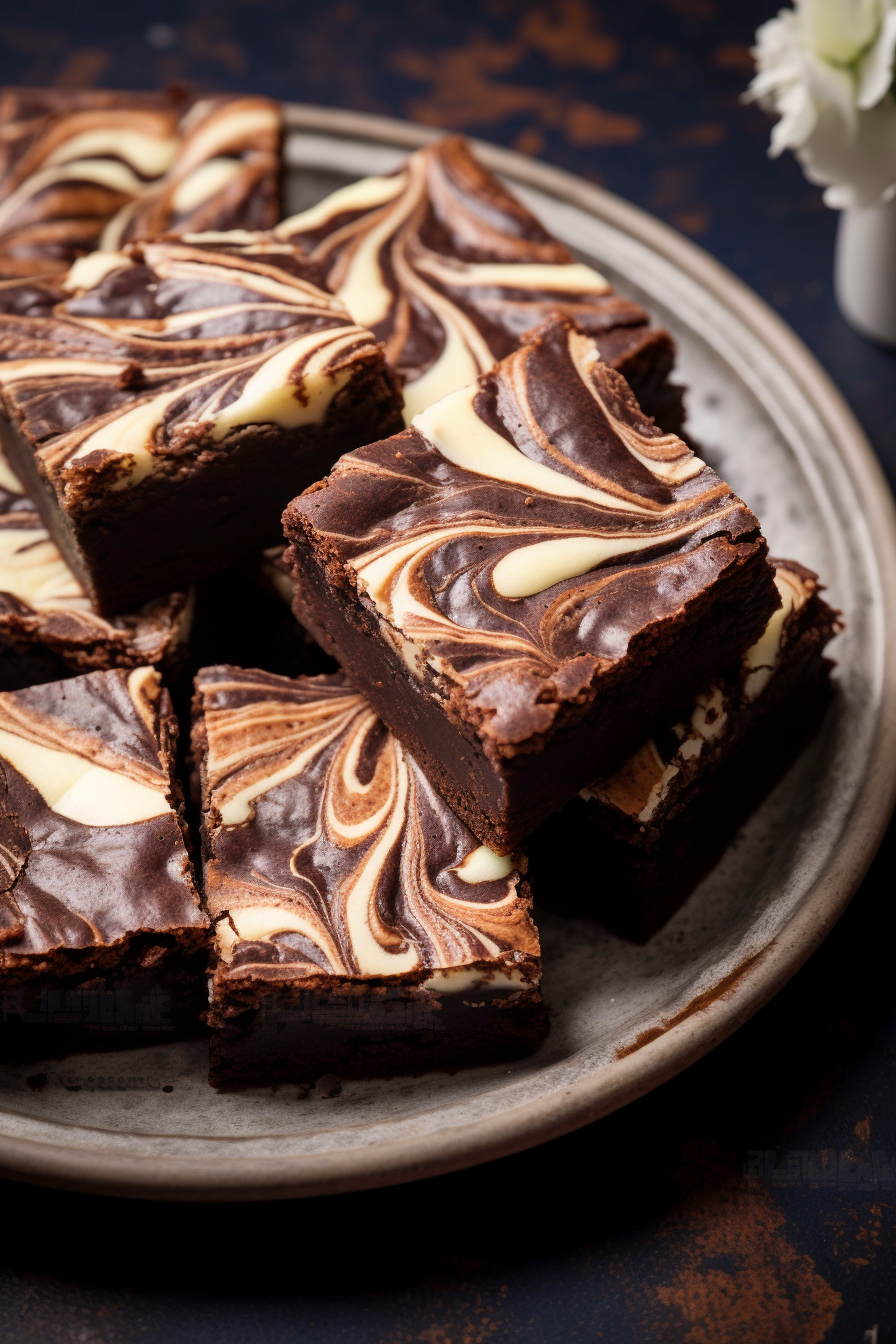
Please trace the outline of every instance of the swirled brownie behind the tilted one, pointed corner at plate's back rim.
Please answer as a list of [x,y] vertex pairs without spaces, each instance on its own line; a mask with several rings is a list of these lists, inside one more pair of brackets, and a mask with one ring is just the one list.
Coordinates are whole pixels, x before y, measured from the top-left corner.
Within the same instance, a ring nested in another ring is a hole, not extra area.
[[386,341],[408,421],[562,312],[598,339],[649,415],[670,431],[684,423],[669,332],[578,262],[461,136],[343,187],[278,233],[301,239],[356,321]]

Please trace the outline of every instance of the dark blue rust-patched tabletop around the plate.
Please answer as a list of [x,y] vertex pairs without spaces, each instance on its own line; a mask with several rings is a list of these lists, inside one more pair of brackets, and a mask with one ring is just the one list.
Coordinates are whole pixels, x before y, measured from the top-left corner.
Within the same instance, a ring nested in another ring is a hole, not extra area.
[[[836,216],[739,102],[775,0],[38,3],[4,82],[187,78],[469,130],[688,233],[766,297],[896,481],[896,360],[836,312]],[[891,836],[809,966],[712,1056],[578,1134],[328,1200],[168,1207],[0,1185],[0,1339],[81,1344],[896,1340]]]

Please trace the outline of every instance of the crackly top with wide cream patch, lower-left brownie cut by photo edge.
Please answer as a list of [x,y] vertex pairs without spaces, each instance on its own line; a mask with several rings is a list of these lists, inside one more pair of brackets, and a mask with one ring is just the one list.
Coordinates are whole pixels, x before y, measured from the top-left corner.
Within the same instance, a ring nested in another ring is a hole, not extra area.
[[0,966],[203,927],[153,668],[0,694]]

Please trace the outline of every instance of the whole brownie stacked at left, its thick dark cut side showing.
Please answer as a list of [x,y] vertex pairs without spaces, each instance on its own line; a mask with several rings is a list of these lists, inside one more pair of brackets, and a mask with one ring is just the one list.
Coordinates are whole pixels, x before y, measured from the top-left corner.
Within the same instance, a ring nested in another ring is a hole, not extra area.
[[340,453],[402,425],[382,348],[270,234],[0,284],[0,437],[101,616],[258,552]]

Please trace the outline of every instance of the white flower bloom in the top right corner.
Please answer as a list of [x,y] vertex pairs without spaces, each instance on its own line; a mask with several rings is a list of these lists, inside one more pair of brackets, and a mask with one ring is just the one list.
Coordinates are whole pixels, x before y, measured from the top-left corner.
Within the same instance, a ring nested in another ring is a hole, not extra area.
[[793,149],[836,210],[896,196],[896,0],[797,0],[756,31],[746,98],[780,121],[772,157]]

